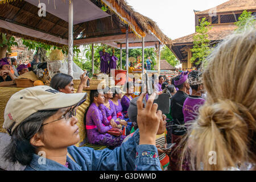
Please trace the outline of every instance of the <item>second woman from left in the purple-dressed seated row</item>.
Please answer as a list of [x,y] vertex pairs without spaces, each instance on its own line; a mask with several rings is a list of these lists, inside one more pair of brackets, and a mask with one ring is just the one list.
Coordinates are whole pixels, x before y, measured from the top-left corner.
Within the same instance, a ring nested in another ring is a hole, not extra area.
[[112,100],[110,100],[110,98],[113,97],[113,93],[110,90],[110,88],[107,86],[104,89],[104,103],[100,104],[100,106],[98,106],[98,109],[101,110],[102,113],[102,119],[104,120],[104,122],[110,122],[112,123],[112,126],[117,127],[117,125],[125,125],[127,126],[126,121],[121,119],[117,119],[117,113],[115,111],[115,107],[114,107],[114,103],[112,102]]

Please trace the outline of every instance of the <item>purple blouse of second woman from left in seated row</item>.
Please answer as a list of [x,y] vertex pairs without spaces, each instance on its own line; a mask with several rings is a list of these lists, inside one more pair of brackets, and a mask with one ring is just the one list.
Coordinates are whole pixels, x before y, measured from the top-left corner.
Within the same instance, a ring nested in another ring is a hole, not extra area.
[[[109,122],[108,117],[110,117],[111,115],[111,119],[117,120],[117,113],[115,112],[115,107],[114,107],[114,103],[112,100],[109,100],[109,106],[110,109],[108,107],[106,107],[104,104],[101,104],[100,106],[98,106],[98,109],[100,109],[101,113],[102,113],[102,121],[103,122]],[[117,125],[119,125],[118,121],[115,121],[117,123]]]

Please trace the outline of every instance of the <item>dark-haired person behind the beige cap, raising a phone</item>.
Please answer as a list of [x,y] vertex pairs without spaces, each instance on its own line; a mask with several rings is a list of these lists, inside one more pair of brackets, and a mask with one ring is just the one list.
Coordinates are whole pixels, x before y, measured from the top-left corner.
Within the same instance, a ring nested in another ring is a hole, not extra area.
[[[88,79],[90,80],[90,78],[88,76],[85,77],[85,74],[86,72],[82,73],[82,75],[80,76],[81,82],[79,87],[77,88],[76,93],[82,93],[82,89],[88,88],[88,86],[86,86],[86,82]],[[63,93],[74,93],[73,77],[65,73],[56,73],[51,78],[49,86]]]

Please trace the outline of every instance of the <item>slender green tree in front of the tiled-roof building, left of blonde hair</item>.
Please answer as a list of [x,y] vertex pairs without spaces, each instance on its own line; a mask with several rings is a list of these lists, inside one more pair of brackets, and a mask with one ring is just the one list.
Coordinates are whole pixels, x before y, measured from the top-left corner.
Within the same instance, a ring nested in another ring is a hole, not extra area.
[[209,27],[209,24],[209,22],[205,21],[205,18],[202,18],[201,20],[199,19],[199,26],[196,26],[197,34],[193,36],[194,46],[191,49],[191,63],[195,62],[196,65],[203,62],[211,52],[207,32],[212,27]]

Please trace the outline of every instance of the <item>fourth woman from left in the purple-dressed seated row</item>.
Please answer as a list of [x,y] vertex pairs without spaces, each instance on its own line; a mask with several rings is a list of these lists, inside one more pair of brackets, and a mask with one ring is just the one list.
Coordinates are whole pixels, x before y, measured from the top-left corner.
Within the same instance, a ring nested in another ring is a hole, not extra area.
[[127,110],[130,105],[130,101],[133,99],[133,97],[131,97],[134,90],[133,82],[126,82],[123,90],[126,92],[126,94],[121,99],[121,105],[123,108],[122,112],[123,112],[123,115],[125,116],[125,119],[128,120]]

